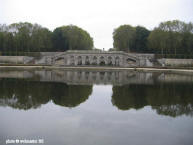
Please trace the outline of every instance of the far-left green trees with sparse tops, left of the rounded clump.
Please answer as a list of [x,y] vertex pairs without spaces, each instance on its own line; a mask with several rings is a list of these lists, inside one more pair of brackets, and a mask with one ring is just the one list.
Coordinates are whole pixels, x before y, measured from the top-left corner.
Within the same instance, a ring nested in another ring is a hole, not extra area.
[[4,52],[51,51],[52,33],[38,24],[0,25],[0,50]]

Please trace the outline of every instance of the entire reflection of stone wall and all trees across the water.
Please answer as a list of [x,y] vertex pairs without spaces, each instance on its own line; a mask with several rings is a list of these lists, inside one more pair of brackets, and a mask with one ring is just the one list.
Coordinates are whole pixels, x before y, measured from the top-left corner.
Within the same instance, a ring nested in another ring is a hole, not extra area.
[[112,84],[112,104],[120,110],[151,106],[158,114],[193,116],[193,76],[135,71],[1,71],[0,106],[28,110],[49,101],[76,107],[93,84]]

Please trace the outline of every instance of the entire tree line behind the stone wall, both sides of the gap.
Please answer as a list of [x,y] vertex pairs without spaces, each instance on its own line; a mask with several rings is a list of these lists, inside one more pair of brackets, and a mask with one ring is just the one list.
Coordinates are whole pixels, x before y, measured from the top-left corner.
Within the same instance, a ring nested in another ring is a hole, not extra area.
[[[74,25],[57,27],[53,32],[28,22],[0,25],[0,52],[3,53],[91,50],[93,47],[90,34]],[[166,21],[153,30],[121,25],[113,32],[113,47],[109,51],[193,57],[193,23]]]

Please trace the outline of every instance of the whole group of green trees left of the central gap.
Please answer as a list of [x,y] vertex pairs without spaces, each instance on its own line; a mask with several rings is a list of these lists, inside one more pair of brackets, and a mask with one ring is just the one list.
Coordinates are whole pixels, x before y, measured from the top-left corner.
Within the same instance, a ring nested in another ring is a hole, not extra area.
[[62,26],[53,32],[38,24],[0,25],[0,52],[45,52],[93,48],[93,39],[85,30]]

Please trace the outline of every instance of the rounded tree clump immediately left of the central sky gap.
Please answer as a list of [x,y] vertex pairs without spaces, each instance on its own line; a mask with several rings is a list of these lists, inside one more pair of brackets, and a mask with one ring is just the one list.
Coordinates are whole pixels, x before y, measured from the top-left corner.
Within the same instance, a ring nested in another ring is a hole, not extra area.
[[93,49],[93,39],[89,33],[74,25],[56,28],[52,39],[58,51]]

